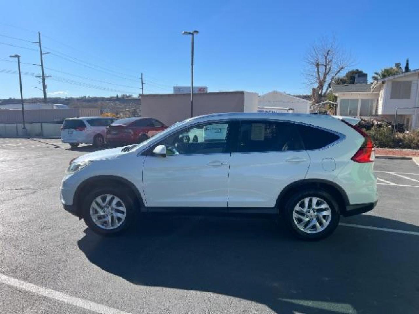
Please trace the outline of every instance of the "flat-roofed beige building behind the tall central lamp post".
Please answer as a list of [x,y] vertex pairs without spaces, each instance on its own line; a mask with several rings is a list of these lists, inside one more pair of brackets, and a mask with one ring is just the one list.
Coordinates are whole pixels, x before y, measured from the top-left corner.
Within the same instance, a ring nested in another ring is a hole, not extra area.
[[[218,112],[256,112],[258,94],[243,91],[194,94],[194,116]],[[191,117],[190,94],[141,96],[141,116],[166,125]]]

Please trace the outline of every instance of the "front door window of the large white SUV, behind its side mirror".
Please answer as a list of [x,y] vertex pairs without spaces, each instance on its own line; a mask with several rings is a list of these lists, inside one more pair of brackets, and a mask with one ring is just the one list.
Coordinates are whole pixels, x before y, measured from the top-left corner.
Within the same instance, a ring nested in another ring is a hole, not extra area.
[[158,145],[165,145],[168,156],[228,152],[228,123],[200,124],[178,131]]

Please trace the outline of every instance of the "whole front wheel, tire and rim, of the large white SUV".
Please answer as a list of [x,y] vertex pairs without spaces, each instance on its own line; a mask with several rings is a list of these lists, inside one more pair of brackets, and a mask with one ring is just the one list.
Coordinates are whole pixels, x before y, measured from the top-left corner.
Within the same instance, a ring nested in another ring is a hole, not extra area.
[[93,232],[105,236],[122,233],[136,216],[131,196],[114,187],[96,188],[88,193],[82,210],[85,223]]

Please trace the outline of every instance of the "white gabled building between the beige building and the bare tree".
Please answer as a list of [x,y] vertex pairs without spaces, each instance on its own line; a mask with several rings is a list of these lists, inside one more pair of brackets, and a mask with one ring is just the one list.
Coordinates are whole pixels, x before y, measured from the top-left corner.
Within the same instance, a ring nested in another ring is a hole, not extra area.
[[293,109],[294,113],[310,113],[310,101],[273,90],[259,96],[258,108],[269,108],[272,111],[278,111],[275,108],[279,111]]

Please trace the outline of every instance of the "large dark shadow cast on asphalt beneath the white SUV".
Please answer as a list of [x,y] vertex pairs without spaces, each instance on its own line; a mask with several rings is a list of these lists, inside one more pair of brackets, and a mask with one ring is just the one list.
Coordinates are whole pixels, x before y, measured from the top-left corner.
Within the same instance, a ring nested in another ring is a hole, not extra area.
[[[419,232],[362,216],[370,226]],[[78,246],[91,263],[137,285],[220,293],[277,313],[395,313],[418,309],[418,240],[339,226],[304,242],[269,219],[146,216],[119,237],[86,229]]]

